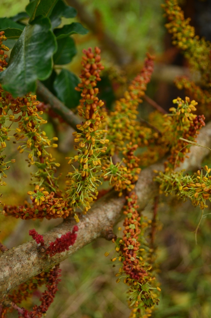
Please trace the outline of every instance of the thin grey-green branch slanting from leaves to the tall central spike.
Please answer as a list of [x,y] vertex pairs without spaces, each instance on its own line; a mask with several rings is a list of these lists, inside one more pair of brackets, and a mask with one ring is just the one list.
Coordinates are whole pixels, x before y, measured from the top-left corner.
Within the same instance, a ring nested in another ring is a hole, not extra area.
[[51,106],[51,109],[55,113],[59,114],[64,121],[66,121],[71,127],[76,128],[77,124],[80,124],[80,119],[66,107],[54,94],[52,94],[47,87],[40,81],[37,81],[36,93],[42,98],[42,100]]

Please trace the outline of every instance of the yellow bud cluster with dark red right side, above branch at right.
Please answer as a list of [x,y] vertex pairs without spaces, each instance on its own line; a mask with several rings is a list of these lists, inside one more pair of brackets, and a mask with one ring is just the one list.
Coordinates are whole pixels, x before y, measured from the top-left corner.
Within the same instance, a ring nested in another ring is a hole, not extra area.
[[187,153],[190,152],[191,144],[179,138],[194,141],[199,130],[205,126],[204,115],[197,116],[192,113],[196,111],[195,106],[198,104],[195,100],[190,102],[189,97],[186,97],[185,100],[178,97],[173,100],[173,103],[177,108],[171,107],[169,109],[171,114],[164,115],[165,142],[169,143],[171,147],[171,156],[168,158],[168,162],[165,162],[165,171],[175,169],[180,162],[184,161],[185,157],[188,157]]

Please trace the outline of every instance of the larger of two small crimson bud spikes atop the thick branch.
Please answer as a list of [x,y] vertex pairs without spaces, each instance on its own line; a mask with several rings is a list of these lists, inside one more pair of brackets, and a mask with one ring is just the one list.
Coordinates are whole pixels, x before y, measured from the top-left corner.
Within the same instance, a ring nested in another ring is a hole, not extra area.
[[47,249],[46,254],[50,254],[50,257],[54,256],[56,253],[64,252],[65,250],[69,251],[69,246],[73,245],[76,241],[78,231],[77,225],[74,225],[72,232],[67,232],[62,235],[61,238],[57,238],[54,242],[50,243],[50,246]]

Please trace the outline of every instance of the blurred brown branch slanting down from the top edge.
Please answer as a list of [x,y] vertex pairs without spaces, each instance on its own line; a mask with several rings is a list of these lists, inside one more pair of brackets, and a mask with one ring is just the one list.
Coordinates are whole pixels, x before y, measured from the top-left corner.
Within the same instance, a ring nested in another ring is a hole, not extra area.
[[67,4],[76,8],[78,11],[78,17],[81,22],[87,25],[87,27],[97,36],[103,49],[110,51],[115,58],[116,62],[124,66],[132,61],[132,56],[130,56],[122,47],[120,47],[108,34],[108,32],[102,30],[98,27],[96,17],[91,16],[87,12],[85,6],[77,0],[65,0]]

